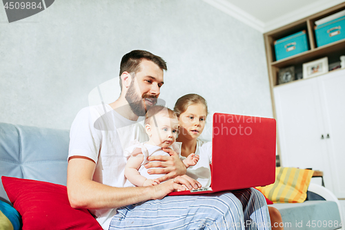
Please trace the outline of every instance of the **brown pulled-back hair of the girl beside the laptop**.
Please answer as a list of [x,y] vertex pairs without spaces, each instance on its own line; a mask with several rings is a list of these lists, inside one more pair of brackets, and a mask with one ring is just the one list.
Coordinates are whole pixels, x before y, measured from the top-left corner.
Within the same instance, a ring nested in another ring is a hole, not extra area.
[[206,99],[204,99],[204,97],[201,97],[198,94],[190,93],[190,94],[186,94],[186,95],[180,97],[179,99],[177,99],[175,106],[174,106],[174,111],[175,111],[177,117],[179,117],[179,115],[181,115],[181,113],[186,112],[188,106],[191,106],[193,104],[203,104],[206,108],[206,115],[208,115],[208,108],[207,108]]

